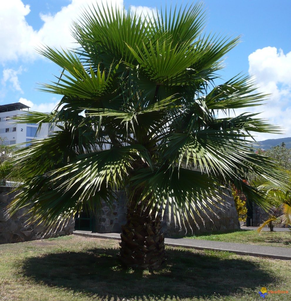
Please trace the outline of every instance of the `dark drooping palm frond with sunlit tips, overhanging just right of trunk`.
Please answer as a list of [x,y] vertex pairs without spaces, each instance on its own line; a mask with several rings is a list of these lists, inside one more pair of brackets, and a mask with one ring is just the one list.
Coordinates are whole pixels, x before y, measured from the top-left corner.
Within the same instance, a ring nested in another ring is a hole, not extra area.
[[131,198],[136,190],[142,190],[139,201],[150,207],[151,212],[161,209],[163,216],[168,206],[169,219],[173,213],[175,224],[180,226],[184,217],[188,221],[189,215],[199,228],[199,217],[203,221],[202,216],[209,217],[210,213],[215,214],[215,207],[225,205],[223,190],[216,179],[189,169],[140,169],[130,178],[130,187],[133,187]]

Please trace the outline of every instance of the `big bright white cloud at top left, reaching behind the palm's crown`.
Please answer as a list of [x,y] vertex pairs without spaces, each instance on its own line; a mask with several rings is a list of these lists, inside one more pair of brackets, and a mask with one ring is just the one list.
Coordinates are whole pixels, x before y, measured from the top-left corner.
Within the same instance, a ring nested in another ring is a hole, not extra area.
[[[0,63],[23,59],[33,60],[38,57],[35,48],[41,45],[62,48],[75,47],[70,28],[73,21],[77,21],[82,9],[103,4],[105,7],[123,7],[123,0],[71,0],[56,14],[40,14],[44,22],[39,30],[34,30],[26,21],[30,6],[21,0],[2,1],[0,10]],[[133,7],[135,8],[135,7]],[[136,7],[139,13],[152,12],[152,8]]]

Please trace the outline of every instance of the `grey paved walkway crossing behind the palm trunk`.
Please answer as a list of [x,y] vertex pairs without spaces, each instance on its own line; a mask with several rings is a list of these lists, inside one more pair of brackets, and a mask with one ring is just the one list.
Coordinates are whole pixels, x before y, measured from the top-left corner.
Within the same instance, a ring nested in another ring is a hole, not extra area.
[[[95,237],[95,238],[107,238],[120,240],[119,233],[91,233],[89,231],[74,231],[73,234]],[[291,247],[279,248],[279,247],[265,247],[257,245],[237,244],[237,243],[225,243],[219,241],[188,239],[188,238],[165,238],[165,245],[172,247],[184,247],[196,250],[213,250],[213,251],[227,251],[236,253],[239,255],[249,255],[258,257],[269,257],[274,259],[291,260]]]

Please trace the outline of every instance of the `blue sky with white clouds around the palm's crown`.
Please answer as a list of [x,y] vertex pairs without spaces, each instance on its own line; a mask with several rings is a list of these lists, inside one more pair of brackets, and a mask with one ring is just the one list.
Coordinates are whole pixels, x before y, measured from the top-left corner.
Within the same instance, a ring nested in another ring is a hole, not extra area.
[[[47,44],[71,47],[69,27],[82,5],[92,0],[9,0],[0,9],[0,104],[21,101],[33,110],[50,111],[57,95],[36,91],[38,82],[49,82],[59,67],[41,58],[35,47]],[[96,0],[94,1],[96,2]],[[101,3],[101,0],[97,0]],[[104,1],[103,1],[104,3]],[[166,2],[148,0],[108,0],[108,3],[134,6],[139,10],[158,10]],[[171,2],[167,2],[170,5]],[[180,5],[185,2],[173,2]],[[146,4],[146,6],[145,6]],[[241,35],[241,42],[228,53],[225,80],[242,72],[254,76],[260,92],[272,93],[264,107],[250,108],[285,128],[291,136],[291,1],[205,0],[206,31],[226,36]],[[241,113],[238,111],[237,113]],[[281,138],[259,135],[258,140]]]

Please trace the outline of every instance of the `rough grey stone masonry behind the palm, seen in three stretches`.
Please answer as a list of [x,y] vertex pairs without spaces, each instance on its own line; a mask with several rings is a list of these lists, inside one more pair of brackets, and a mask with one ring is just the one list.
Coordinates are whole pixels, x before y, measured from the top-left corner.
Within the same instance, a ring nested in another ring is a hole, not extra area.
[[[23,216],[24,209],[20,210],[7,219],[5,216],[4,208],[8,205],[15,194],[8,194],[11,191],[10,187],[0,187],[0,244],[3,243],[15,243],[27,240],[35,240],[48,237],[57,237],[60,235],[69,235],[74,231],[75,221],[71,219],[66,227],[58,229],[53,233],[50,232],[43,236],[45,229],[42,225],[30,225],[29,227],[24,226],[24,222],[27,216]],[[238,221],[237,211],[234,206],[234,200],[230,196],[225,196],[225,202],[229,205],[222,208],[212,208],[216,213],[208,212],[208,215],[212,221],[204,218],[204,224],[202,220],[197,217],[197,222],[199,228],[195,223],[190,220],[190,223],[185,223],[185,227],[182,229],[179,226],[175,226],[173,216],[171,217],[171,222],[169,219],[168,210],[166,207],[164,218],[162,221],[162,232],[164,232],[165,237],[174,237],[176,235],[183,235],[186,232],[193,234],[200,234],[212,231],[228,231],[240,228]],[[122,191],[118,194],[118,200],[113,203],[112,208],[103,204],[101,212],[96,215],[91,216],[93,219],[93,232],[97,233],[110,233],[110,232],[120,232],[121,225],[126,223],[126,195]],[[224,211],[223,211],[224,210]]]

